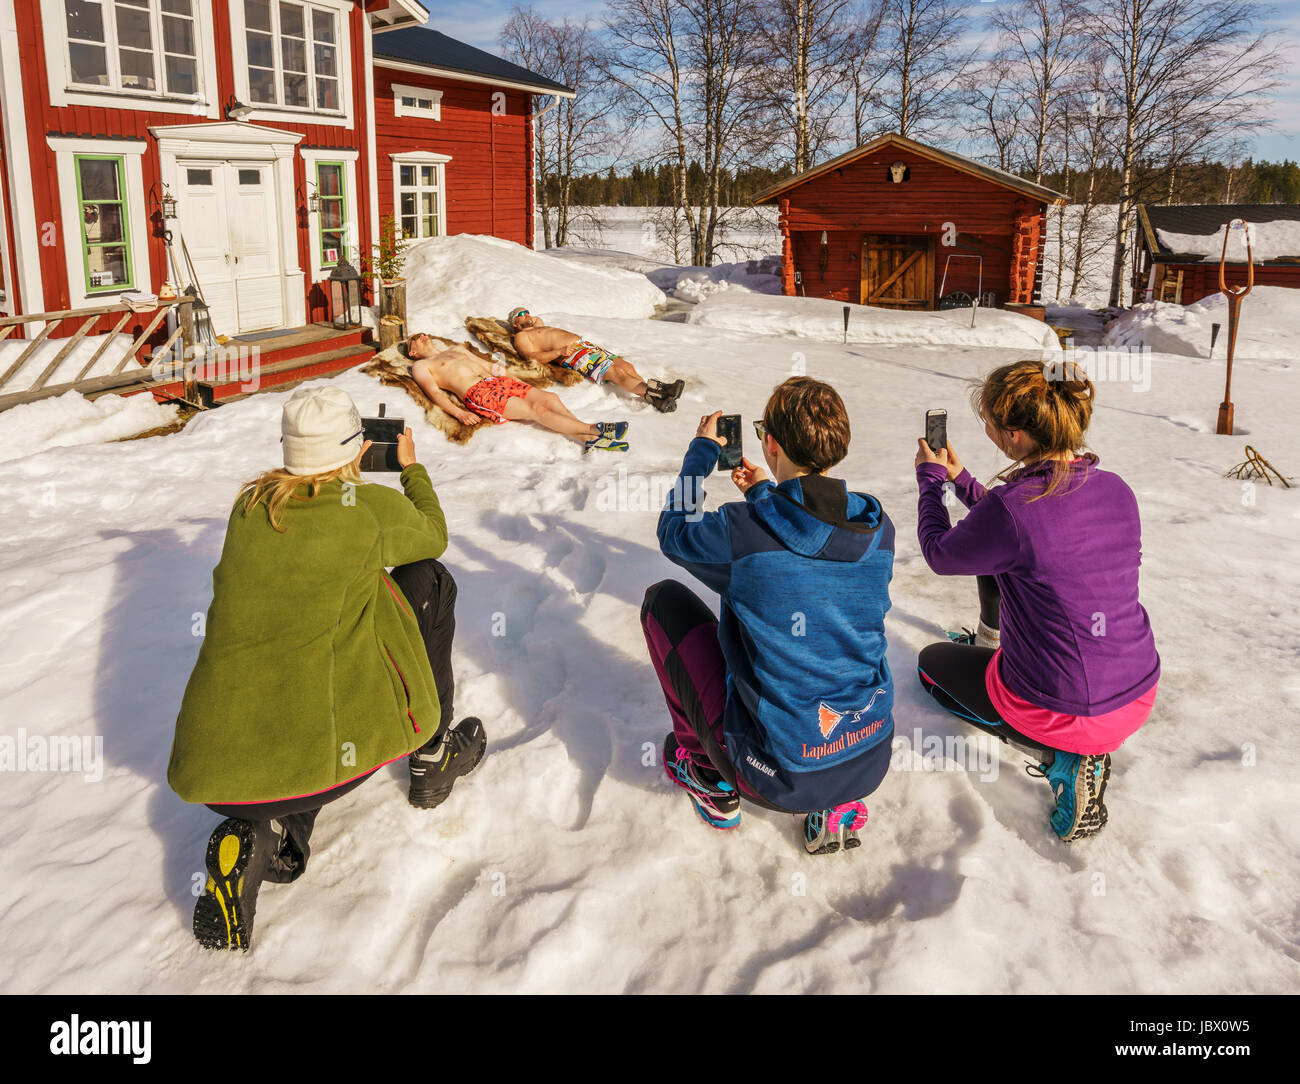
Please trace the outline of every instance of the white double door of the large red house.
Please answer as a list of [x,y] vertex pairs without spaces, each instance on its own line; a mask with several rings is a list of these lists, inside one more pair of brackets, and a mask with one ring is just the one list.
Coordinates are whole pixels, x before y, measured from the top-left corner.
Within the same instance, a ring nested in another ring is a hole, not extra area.
[[178,161],[177,175],[181,233],[213,330],[278,328],[285,311],[270,162]]

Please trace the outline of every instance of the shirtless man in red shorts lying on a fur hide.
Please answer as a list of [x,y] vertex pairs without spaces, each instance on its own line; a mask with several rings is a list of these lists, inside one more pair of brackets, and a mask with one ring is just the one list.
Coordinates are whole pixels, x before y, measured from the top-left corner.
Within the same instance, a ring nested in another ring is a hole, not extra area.
[[[433,339],[415,334],[407,339],[407,355],[416,359],[411,377],[442,409],[465,425],[484,419],[498,425],[507,421],[536,421],[555,433],[584,442],[585,448],[627,451],[625,421],[578,421],[554,391],[542,391],[514,377],[493,370],[463,346],[439,351]],[[447,393],[460,396],[463,409]],[[471,411],[473,413],[471,413]]]

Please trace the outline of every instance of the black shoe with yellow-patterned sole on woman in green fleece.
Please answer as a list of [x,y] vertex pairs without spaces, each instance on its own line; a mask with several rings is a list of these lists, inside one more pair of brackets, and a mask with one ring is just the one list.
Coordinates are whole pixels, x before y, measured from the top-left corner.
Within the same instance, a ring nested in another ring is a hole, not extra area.
[[252,948],[257,889],[282,840],[269,821],[230,818],[208,840],[208,883],[194,905],[194,937],[205,949]]

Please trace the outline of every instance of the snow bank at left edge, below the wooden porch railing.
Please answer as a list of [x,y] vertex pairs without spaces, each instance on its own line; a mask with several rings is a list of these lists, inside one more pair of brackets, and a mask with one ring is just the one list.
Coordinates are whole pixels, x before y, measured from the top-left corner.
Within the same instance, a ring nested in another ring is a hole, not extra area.
[[66,391],[0,412],[0,463],[47,448],[95,445],[170,425],[178,408],[152,395],[100,395],[87,399]]

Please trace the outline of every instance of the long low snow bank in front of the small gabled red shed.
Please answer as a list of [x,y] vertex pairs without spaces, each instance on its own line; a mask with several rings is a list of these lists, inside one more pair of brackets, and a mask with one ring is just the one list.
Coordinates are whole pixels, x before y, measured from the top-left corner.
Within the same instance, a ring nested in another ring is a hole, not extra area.
[[[902,309],[848,305],[850,343],[941,343],[997,346],[1030,351],[1058,351],[1056,331],[1040,320],[1005,309],[945,309],[906,312]],[[842,342],[842,302],[824,298],[760,296],[727,291],[702,300],[686,317],[689,324],[727,328],[733,331],[759,331],[768,335],[794,335],[801,339]]]

